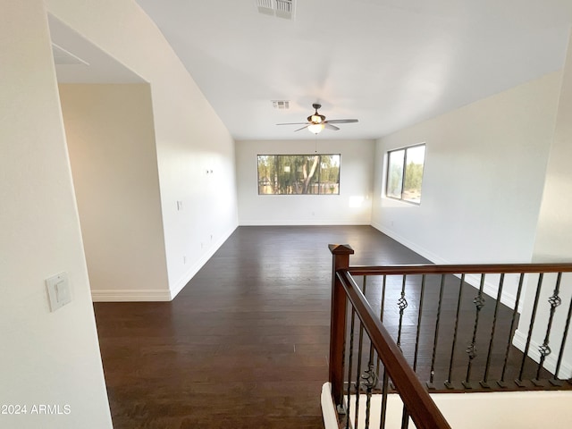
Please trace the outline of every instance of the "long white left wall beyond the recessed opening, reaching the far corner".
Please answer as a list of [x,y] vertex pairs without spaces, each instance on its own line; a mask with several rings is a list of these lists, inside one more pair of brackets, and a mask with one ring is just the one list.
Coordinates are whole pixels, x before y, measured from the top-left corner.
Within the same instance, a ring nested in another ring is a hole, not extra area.
[[167,275],[174,296],[238,225],[231,135],[134,1],[46,4],[57,20],[150,84]]

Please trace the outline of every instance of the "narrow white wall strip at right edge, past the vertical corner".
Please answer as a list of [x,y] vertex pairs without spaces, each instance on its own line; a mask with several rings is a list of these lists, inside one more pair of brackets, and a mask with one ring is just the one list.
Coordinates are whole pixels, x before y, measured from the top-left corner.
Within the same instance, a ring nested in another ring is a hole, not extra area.
[[[544,192],[536,240],[534,241],[534,262],[572,262],[572,33],[568,42],[568,56],[564,68],[560,89],[556,130],[551,145],[550,158],[544,182]],[[550,306],[547,299],[554,290],[549,282],[543,288],[532,338],[534,357],[538,358],[537,346],[543,344],[548,324]],[[553,281],[553,279],[552,279]],[[534,281],[531,283],[534,284]],[[572,275],[563,276],[559,296],[563,305],[556,308],[549,345],[551,355],[546,359],[547,366],[553,370],[559,355],[561,334],[567,319],[568,305],[572,295]],[[528,333],[534,303],[534,288],[527,288],[525,309],[521,315],[517,341],[521,349],[524,347]],[[572,374],[572,341],[568,335],[562,367],[563,377]]]

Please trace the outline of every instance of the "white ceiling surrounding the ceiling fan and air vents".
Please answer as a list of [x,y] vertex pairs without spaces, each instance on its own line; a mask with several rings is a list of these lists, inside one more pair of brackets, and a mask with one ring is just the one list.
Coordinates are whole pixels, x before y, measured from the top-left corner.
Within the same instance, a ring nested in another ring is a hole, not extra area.
[[[572,0],[137,0],[235,139],[375,139],[559,70]],[[60,44],[60,46],[63,46]],[[65,46],[63,46],[65,47]],[[275,110],[271,100],[290,100]]]

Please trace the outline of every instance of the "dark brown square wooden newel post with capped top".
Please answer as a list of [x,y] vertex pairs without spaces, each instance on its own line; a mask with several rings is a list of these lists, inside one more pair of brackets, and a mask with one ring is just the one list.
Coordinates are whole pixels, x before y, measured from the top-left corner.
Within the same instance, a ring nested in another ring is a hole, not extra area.
[[349,267],[349,255],[354,249],[349,244],[330,244],[332,252],[332,311],[330,322],[330,368],[329,382],[332,383],[332,397],[341,405],[343,397],[343,354],[346,332],[346,293],[336,272]]

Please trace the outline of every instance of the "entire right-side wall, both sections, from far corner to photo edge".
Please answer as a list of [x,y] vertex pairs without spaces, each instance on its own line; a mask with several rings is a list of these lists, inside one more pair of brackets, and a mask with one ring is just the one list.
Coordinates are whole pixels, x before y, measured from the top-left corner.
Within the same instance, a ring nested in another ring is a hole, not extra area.
[[[563,71],[553,72],[418,123],[377,143],[373,224],[436,263],[572,261],[572,49]],[[425,142],[422,202],[383,196],[387,150]],[[471,277],[476,284],[478,279]],[[538,360],[555,279],[545,276],[530,356]],[[514,344],[524,349],[537,278],[521,297]],[[546,366],[559,355],[572,276],[560,286]],[[487,277],[485,291],[497,284]],[[515,305],[517,280],[505,282],[502,300]],[[534,288],[532,287],[534,286]],[[572,374],[572,343],[561,363]]]

